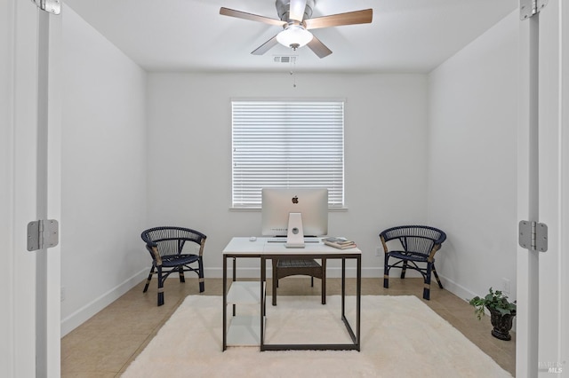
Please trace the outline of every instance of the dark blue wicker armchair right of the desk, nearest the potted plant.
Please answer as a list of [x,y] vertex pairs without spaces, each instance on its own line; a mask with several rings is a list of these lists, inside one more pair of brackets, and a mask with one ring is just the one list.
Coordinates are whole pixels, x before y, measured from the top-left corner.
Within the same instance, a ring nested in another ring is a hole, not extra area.
[[[435,274],[438,287],[443,288],[435,268],[435,253],[446,240],[445,232],[426,225],[400,225],[382,231],[380,239],[385,251],[383,287],[389,288],[389,270],[391,268],[401,268],[401,279],[405,279],[405,271],[407,269],[413,269],[421,273],[425,280],[423,287],[424,299],[430,299],[431,272]],[[397,246],[394,250],[389,250],[388,242],[390,240],[399,240],[400,246]],[[391,258],[396,260],[393,264],[389,264],[389,259]],[[421,266],[418,264],[421,264]]]

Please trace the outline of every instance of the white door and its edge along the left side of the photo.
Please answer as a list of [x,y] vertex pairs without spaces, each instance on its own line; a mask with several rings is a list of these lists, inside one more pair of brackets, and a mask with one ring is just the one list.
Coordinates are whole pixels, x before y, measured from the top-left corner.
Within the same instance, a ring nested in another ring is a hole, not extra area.
[[[29,252],[27,229],[30,221],[40,217],[60,216],[59,65],[55,59],[60,56],[60,20],[49,19],[52,32],[46,35],[43,30],[47,28],[40,28],[43,11],[36,4],[24,0],[0,3],[0,261],[4,288],[0,366],[3,376],[59,376],[60,250]],[[42,58],[47,58],[47,45],[54,53],[49,71],[42,72],[38,67],[48,62]],[[53,82],[49,97],[38,90],[47,77]]]

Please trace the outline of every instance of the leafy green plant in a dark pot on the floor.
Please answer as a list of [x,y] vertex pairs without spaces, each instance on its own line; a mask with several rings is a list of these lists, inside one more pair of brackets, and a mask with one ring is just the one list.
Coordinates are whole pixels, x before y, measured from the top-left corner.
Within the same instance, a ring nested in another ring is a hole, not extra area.
[[485,297],[475,296],[470,299],[469,303],[474,306],[474,313],[478,319],[485,316],[484,309],[490,311],[490,320],[492,321],[492,335],[500,340],[511,340],[509,330],[512,328],[512,320],[516,316],[516,303],[509,302],[508,296],[504,295],[500,290],[488,290]]

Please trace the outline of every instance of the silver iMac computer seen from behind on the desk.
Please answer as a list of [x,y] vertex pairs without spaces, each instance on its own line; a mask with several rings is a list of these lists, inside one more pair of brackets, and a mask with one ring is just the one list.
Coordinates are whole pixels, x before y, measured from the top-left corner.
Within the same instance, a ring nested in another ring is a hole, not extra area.
[[328,233],[328,189],[263,188],[261,234],[286,236],[287,248],[304,248],[305,236]]

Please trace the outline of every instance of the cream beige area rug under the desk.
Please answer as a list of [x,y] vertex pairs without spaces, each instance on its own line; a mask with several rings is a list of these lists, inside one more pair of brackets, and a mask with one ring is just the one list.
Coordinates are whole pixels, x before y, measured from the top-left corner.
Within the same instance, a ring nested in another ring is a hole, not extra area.
[[[270,300],[270,298],[268,298]],[[267,305],[266,343],[350,343],[341,297],[278,297]],[[355,330],[354,297],[347,314]],[[258,311],[258,307],[237,308]],[[228,318],[230,312],[228,311]],[[362,296],[361,351],[228,347],[222,298],[190,295],[123,377],[510,377],[415,296]]]

